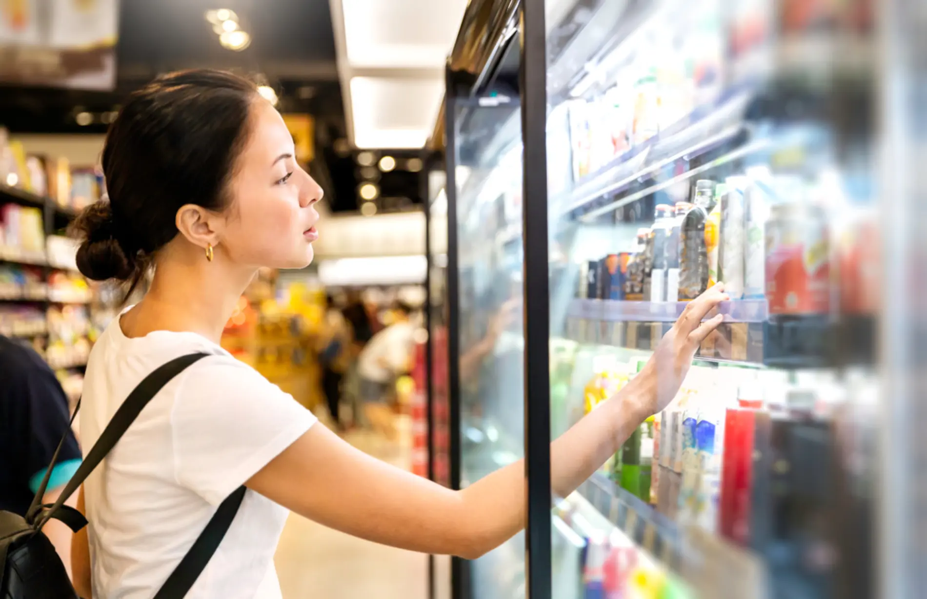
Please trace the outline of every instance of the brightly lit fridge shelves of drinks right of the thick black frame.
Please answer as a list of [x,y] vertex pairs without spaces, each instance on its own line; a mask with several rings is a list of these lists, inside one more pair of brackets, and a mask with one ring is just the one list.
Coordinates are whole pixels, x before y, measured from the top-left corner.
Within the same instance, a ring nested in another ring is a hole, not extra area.
[[546,1],[552,437],[731,297],[667,410],[553,498],[552,596],[874,594],[867,6]]

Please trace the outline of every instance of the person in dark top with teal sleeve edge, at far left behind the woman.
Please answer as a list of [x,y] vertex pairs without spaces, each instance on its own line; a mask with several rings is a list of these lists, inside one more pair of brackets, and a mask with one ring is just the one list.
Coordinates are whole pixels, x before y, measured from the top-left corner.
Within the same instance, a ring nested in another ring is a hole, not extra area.
[[[68,396],[55,373],[31,348],[2,335],[0,381],[0,511],[25,517],[49,467],[42,503],[55,503],[81,465],[81,450],[70,429]],[[67,503],[75,505],[76,497]],[[70,574],[70,529],[51,519],[43,531]]]

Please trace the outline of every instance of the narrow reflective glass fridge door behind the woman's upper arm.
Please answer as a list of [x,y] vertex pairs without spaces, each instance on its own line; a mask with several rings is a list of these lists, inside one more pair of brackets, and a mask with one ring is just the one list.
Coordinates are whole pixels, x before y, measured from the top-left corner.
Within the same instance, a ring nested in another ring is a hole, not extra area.
[[[524,455],[521,127],[517,99],[452,98],[460,486]],[[450,251],[454,251],[450,248]],[[525,594],[524,537],[466,568],[470,596]]]

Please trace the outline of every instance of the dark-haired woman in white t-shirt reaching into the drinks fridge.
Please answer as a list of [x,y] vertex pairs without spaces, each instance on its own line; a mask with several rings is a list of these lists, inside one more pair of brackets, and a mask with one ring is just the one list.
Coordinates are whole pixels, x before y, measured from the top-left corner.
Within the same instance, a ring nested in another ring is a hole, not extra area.
[[[279,597],[273,552],[287,511],[378,543],[483,555],[525,523],[524,466],[451,491],[364,455],[219,346],[260,267],[304,268],[322,190],[254,86],[231,74],[174,73],[133,94],[103,151],[108,203],[87,208],[78,266],[91,279],[154,279],[95,344],[82,437],[95,443],[125,396],[173,357],[209,356],[146,406],[83,484],[90,521],[75,536],[84,597],[150,597],[239,485],[248,493],[187,597]],[[695,349],[720,321],[702,318],[720,287],[693,301],[647,368],[552,443],[564,496],[667,406]],[[88,539],[89,537],[89,539]]]

